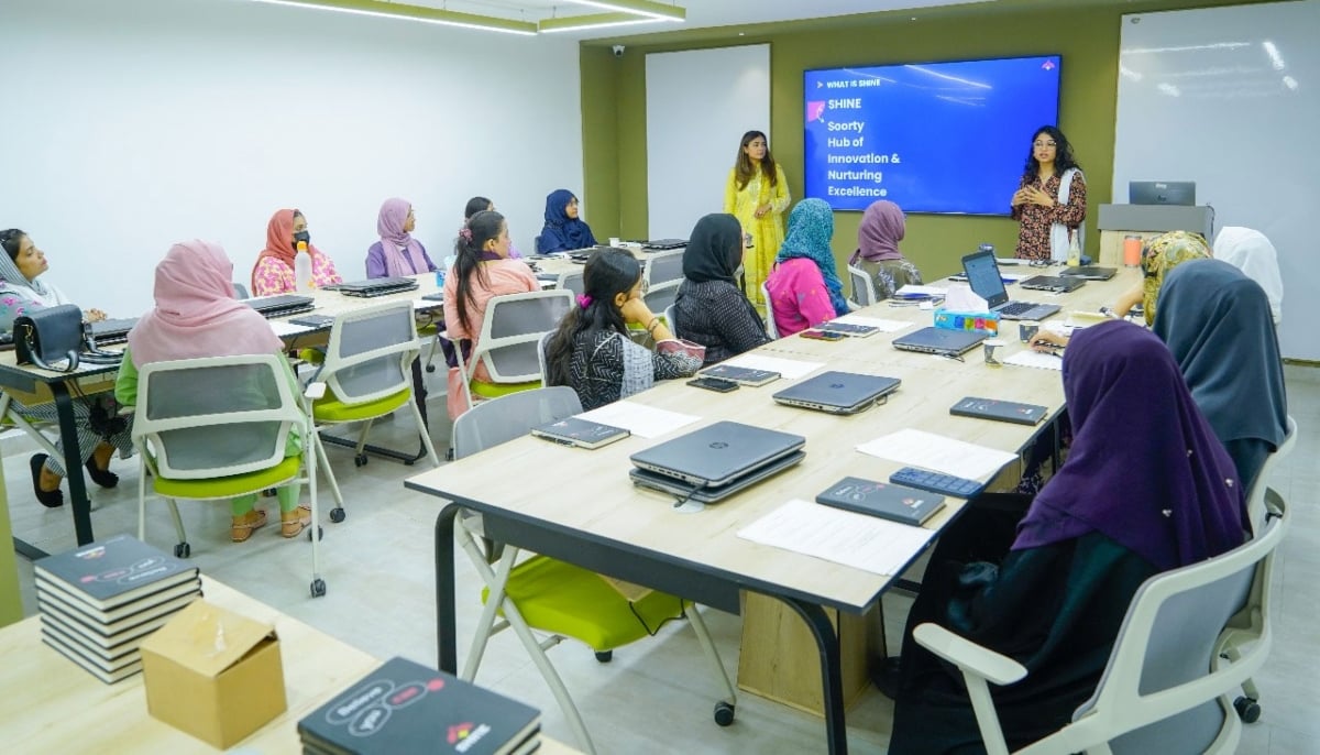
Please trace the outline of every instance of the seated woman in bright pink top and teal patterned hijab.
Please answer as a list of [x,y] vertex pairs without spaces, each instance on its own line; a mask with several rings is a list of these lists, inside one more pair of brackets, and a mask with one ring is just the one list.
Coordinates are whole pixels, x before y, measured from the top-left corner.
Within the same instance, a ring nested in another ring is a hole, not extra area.
[[847,314],[834,252],[834,214],[824,199],[803,199],[788,214],[788,235],[766,277],[779,337]]

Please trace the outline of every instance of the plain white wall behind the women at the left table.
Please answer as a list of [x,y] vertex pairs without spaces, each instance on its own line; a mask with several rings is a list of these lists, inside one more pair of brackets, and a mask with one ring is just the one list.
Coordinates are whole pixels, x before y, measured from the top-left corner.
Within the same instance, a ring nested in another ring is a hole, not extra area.
[[438,263],[474,194],[531,252],[545,195],[581,193],[570,40],[236,0],[3,0],[0,29],[0,227],[112,317],[180,239],[247,282],[280,207],[356,280],[387,197]]

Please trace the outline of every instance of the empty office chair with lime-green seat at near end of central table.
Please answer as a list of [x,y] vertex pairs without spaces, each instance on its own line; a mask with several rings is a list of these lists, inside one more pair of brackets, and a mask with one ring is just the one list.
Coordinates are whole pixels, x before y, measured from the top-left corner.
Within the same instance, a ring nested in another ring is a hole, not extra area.
[[[454,455],[463,459],[525,436],[537,425],[581,410],[577,393],[562,385],[486,401],[454,421]],[[471,681],[477,677],[490,636],[512,628],[550,686],[582,748],[594,754],[595,747],[582,715],[545,649],[572,638],[587,644],[597,653],[597,660],[609,661],[614,648],[649,636],[665,620],[681,614],[688,616],[717,678],[723,684],[726,697],[715,704],[715,722],[721,726],[733,723],[737,704],[734,686],[701,614],[690,601],[609,581],[601,574],[546,556],[531,556],[519,564],[520,549],[486,540],[482,519],[477,512],[462,512],[455,519],[454,533],[486,583],[482,590],[484,607],[462,678]],[[496,623],[496,618],[502,620]],[[539,641],[532,634],[533,628],[552,636]]]

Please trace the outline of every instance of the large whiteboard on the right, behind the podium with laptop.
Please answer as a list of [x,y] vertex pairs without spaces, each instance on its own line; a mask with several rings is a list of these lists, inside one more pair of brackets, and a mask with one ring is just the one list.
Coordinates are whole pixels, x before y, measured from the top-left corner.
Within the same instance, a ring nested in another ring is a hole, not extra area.
[[[1279,251],[1284,356],[1320,359],[1320,0],[1123,16],[1114,198],[1129,181],[1196,181],[1216,231]],[[1311,231],[1311,232],[1308,232]]]

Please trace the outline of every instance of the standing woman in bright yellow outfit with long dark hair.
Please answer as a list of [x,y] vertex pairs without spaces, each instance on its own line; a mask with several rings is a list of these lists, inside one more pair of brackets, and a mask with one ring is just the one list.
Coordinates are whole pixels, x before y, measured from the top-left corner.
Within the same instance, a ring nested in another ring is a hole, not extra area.
[[788,210],[788,181],[770,154],[770,143],[759,131],[748,131],[738,145],[738,160],[725,185],[725,213],[738,218],[751,236],[751,253],[744,257],[743,293],[764,305],[760,284],[775,265],[784,243],[784,213]]

